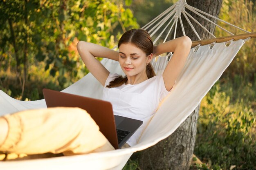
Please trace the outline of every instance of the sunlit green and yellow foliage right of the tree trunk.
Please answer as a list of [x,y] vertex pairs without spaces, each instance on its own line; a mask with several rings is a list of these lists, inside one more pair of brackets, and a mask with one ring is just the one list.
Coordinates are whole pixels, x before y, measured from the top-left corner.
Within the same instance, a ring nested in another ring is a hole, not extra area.
[[[255,32],[256,6],[223,0],[219,18]],[[234,34],[244,33],[226,24]],[[216,37],[227,36],[216,29]],[[256,168],[256,40],[249,40],[201,102],[194,153],[213,170]],[[200,168],[198,168],[200,169]]]

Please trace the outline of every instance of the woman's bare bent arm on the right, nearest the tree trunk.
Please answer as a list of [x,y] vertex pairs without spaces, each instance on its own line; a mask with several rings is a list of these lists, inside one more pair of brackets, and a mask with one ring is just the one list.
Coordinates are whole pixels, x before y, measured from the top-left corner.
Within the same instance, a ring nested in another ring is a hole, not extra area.
[[173,57],[168,62],[163,73],[164,84],[167,91],[171,90],[175,84],[175,80],[180,75],[189,55],[191,45],[191,39],[187,36],[183,36],[154,47],[153,56],[173,52]]

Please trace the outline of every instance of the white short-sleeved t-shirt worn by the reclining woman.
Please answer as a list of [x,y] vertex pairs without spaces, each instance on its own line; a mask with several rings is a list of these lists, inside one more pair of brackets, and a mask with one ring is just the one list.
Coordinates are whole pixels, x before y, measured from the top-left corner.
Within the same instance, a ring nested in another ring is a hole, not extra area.
[[163,76],[154,76],[139,84],[123,84],[119,87],[106,88],[118,74],[110,73],[103,88],[103,100],[112,104],[114,115],[143,121],[139,129],[130,137],[130,146],[137,144],[148,121],[153,116],[159,103],[170,93],[164,86]]

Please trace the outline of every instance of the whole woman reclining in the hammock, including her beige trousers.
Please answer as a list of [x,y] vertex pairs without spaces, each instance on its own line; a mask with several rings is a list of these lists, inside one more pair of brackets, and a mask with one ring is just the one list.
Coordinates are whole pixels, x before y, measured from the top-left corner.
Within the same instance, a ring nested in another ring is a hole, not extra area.
[[[144,122],[127,141],[134,146],[159,102],[173,88],[186,62],[191,40],[184,36],[153,46],[146,31],[132,29],[124,33],[118,47],[119,52],[89,42],[77,44],[88,70],[104,86],[103,99],[112,103],[114,114]],[[173,52],[173,57],[164,73],[156,76],[150,61],[166,52]],[[119,61],[126,76],[110,73],[95,57]],[[88,113],[79,108],[25,110],[5,115],[0,117],[0,129],[0,153],[5,154],[31,154],[29,158],[40,154],[34,157],[39,158],[46,152],[74,155],[114,149]]]

